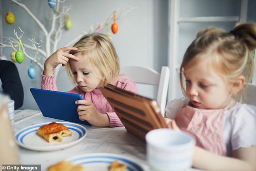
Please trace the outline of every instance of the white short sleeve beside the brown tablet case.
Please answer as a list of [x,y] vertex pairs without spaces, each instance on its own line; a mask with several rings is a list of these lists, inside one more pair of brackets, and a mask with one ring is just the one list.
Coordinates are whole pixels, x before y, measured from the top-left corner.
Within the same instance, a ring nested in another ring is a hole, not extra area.
[[170,119],[174,119],[178,110],[180,110],[188,103],[189,99],[187,97],[182,97],[180,99],[173,99],[169,101],[165,108],[166,116]]

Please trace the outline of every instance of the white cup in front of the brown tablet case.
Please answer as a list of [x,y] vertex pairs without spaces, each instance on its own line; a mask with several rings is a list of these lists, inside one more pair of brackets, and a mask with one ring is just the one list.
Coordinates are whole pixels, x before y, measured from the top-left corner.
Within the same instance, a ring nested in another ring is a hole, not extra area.
[[146,134],[147,161],[151,171],[189,171],[195,138],[183,131],[155,129]]

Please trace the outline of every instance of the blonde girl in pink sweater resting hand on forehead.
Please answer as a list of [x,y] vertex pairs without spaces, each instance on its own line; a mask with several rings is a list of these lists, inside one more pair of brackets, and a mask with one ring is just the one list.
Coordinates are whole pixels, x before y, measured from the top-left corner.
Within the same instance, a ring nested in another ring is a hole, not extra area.
[[80,120],[92,126],[123,126],[99,87],[110,83],[133,93],[138,89],[130,78],[119,75],[118,55],[106,35],[85,35],[73,47],[63,47],[49,56],[42,72],[42,89],[57,91],[53,70],[59,64],[66,66],[69,78],[77,84],[69,93],[81,94],[84,99],[76,101]]

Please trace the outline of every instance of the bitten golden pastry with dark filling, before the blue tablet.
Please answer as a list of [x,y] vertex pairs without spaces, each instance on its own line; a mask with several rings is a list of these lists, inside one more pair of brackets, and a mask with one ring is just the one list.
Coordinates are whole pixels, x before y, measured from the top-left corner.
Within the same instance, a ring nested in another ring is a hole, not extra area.
[[70,130],[65,125],[56,122],[41,126],[37,134],[48,142],[62,141],[63,137],[71,136]]

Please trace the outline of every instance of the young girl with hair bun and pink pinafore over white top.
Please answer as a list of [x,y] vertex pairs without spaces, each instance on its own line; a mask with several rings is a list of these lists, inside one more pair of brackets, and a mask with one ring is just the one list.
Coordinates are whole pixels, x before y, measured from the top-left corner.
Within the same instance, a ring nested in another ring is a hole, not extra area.
[[231,32],[202,29],[185,52],[180,84],[186,97],[167,104],[165,120],[195,137],[193,167],[256,170],[256,106],[236,101],[253,76],[255,48],[256,25],[243,23]]

